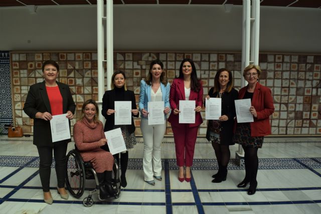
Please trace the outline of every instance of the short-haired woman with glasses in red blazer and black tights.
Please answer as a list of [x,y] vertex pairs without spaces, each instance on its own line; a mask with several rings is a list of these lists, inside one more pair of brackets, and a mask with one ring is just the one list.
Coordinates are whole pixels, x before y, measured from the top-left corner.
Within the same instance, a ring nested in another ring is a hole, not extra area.
[[245,178],[237,187],[246,187],[250,183],[247,191],[249,195],[256,191],[259,165],[257,150],[262,148],[263,136],[271,134],[269,116],[274,112],[271,90],[258,83],[260,74],[261,70],[257,65],[249,65],[244,69],[243,77],[248,85],[239,91],[239,99],[251,99],[249,110],[254,122],[237,123],[234,134],[235,143],[241,144],[245,152]]

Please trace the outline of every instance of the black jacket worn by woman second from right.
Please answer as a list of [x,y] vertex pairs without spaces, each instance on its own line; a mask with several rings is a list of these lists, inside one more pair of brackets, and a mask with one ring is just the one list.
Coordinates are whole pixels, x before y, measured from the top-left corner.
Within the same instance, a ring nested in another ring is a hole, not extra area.
[[[217,97],[217,92],[213,94],[214,88],[209,91],[210,97]],[[227,93],[222,94],[222,115],[226,115],[229,119],[227,121],[221,121],[221,144],[222,145],[233,145],[233,127],[234,127],[234,117],[235,112],[235,102],[238,99],[238,92],[232,88],[232,90]],[[205,99],[206,100],[206,99]],[[206,138],[210,140],[210,130],[207,128]]]

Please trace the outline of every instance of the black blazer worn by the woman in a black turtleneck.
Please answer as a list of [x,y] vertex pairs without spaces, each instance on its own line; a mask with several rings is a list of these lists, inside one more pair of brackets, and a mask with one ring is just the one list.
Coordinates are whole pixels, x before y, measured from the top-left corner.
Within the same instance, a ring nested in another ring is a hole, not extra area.
[[[137,109],[136,106],[136,99],[135,94],[133,91],[127,90],[124,91],[124,101],[131,101],[131,109]],[[115,109],[115,98],[116,92],[115,89],[105,91],[105,94],[102,98],[102,109],[101,114],[105,117],[106,123],[104,127],[104,131],[112,130],[115,124],[115,114],[107,115],[108,109]],[[138,117],[139,112],[137,115],[131,114],[133,117]],[[131,117],[131,125],[127,125],[129,133],[133,133],[135,131],[134,121]]]

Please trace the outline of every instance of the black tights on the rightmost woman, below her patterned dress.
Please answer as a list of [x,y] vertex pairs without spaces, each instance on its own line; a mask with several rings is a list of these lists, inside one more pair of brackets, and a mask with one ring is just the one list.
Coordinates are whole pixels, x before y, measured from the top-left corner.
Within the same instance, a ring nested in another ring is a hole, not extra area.
[[245,147],[244,150],[244,163],[245,163],[245,178],[244,180],[250,183],[256,182],[257,170],[259,167],[259,158],[257,157],[258,148]]

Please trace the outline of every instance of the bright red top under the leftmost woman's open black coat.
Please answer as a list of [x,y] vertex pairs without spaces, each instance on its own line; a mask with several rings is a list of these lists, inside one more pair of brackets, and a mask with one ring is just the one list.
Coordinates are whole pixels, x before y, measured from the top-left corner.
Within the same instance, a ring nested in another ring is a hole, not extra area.
[[51,115],[58,115],[63,114],[62,111],[62,96],[59,90],[59,87],[48,87],[46,86],[50,108],[51,108]]

